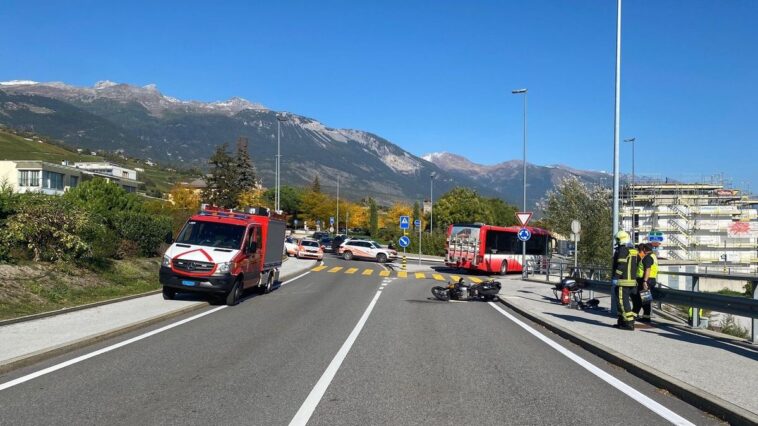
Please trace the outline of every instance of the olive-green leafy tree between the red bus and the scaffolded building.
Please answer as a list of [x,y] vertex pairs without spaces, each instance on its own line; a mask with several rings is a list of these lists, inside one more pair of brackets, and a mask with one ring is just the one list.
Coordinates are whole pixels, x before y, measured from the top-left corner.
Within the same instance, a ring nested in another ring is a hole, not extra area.
[[564,237],[571,235],[571,221],[582,224],[577,256],[583,264],[605,264],[611,256],[611,193],[587,186],[575,177],[561,181],[547,193],[540,207],[547,227]]

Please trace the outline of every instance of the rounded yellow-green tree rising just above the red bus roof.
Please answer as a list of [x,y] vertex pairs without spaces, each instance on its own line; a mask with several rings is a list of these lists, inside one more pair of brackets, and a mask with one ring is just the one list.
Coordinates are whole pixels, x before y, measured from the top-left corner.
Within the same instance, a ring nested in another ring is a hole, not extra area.
[[434,223],[438,228],[451,223],[492,221],[490,205],[472,189],[454,188],[434,203]]

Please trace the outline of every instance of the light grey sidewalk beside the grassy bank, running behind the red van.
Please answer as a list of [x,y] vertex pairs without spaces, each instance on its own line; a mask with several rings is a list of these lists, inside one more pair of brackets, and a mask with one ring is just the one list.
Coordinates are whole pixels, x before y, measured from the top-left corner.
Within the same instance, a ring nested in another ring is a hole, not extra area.
[[[282,265],[279,278],[285,281],[314,265],[313,260],[290,258]],[[206,298],[191,294],[177,300],[153,294],[1,326],[0,374],[204,306],[208,306]]]

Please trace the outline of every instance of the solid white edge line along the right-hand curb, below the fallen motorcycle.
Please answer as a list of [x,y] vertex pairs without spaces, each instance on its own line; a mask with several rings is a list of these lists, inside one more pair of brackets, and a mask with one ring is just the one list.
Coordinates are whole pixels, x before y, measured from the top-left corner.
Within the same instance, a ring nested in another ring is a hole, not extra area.
[[564,348],[563,346],[559,345],[552,339],[542,335],[537,330],[533,329],[532,327],[529,327],[527,324],[519,320],[518,318],[514,317],[513,315],[506,312],[503,308],[500,306],[497,306],[494,302],[489,302],[489,305],[495,308],[498,312],[505,315],[506,318],[513,321],[518,325],[519,327],[523,328],[524,330],[528,331],[530,334],[534,335],[536,338],[542,340],[545,342],[548,346],[555,349],[556,351],[560,352],[562,355],[564,355],[566,358],[574,361],[575,363],[579,364],[581,367],[589,371],[590,373],[596,375],[609,385],[613,386],[614,388],[620,390],[621,392],[625,393],[627,396],[633,398],[635,401],[639,402],[640,404],[644,405],[645,407],[649,408],[654,413],[658,414],[659,416],[663,417],[667,421],[675,424],[675,425],[691,425],[694,426],[693,423],[690,423],[687,419],[684,417],[676,414],[675,412],[669,410],[668,408],[664,407],[663,405],[653,401],[648,396],[642,394],[638,390],[634,389],[633,387],[627,385],[626,383],[622,382],[621,380],[611,376],[610,374],[606,373],[605,371],[599,369],[598,367],[594,366],[589,361],[585,360],[584,358],[580,357],[579,355],[569,351],[568,349]]

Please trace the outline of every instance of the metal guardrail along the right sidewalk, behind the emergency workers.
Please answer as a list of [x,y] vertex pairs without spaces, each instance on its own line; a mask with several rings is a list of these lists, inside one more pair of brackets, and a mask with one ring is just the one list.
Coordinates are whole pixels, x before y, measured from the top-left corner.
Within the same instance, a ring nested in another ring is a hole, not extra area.
[[[552,261],[545,259],[541,262],[527,263],[527,276],[532,273],[545,273],[546,281],[550,281],[551,275],[555,277],[556,273],[559,279],[572,277],[582,284],[585,289],[597,291],[599,293],[612,294],[613,285],[610,281],[596,279],[602,273],[610,273],[610,268],[580,266],[574,268],[573,264],[567,262]],[[653,297],[657,302],[670,305],[691,307],[693,312],[699,312],[702,309],[724,314],[737,315],[741,317],[752,318],[752,330],[750,340],[758,344],[758,275],[748,274],[714,274],[714,273],[696,273],[696,272],[674,272],[659,271],[663,275],[676,275],[689,277],[692,280],[692,290],[675,290],[671,288],[656,287],[653,291]],[[752,286],[753,298],[726,296],[717,293],[700,292],[700,279],[723,279],[732,281],[747,281]],[[592,293],[590,293],[590,297]],[[692,315],[690,325],[692,327],[700,326],[700,315]]]

